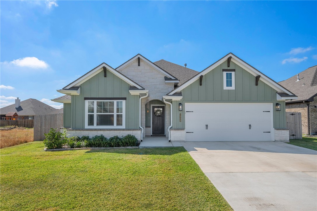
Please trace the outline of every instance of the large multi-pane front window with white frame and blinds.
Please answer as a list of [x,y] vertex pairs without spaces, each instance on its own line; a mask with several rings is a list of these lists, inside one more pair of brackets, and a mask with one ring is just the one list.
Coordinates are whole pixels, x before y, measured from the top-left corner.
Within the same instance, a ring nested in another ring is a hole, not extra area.
[[86,100],[86,128],[124,128],[125,100]]

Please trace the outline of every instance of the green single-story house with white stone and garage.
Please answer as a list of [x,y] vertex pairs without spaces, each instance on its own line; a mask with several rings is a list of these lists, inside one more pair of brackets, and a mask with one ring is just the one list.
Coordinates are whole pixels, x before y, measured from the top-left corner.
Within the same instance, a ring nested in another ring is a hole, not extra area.
[[102,63],[53,99],[64,103],[71,136],[133,134],[140,141],[288,140],[285,100],[297,99],[232,53],[201,72],[137,54],[117,68]]

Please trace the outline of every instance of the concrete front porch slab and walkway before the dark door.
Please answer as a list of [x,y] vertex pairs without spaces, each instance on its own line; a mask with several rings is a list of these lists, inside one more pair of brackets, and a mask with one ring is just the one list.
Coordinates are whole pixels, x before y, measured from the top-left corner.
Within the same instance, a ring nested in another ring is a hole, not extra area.
[[145,136],[140,143],[139,148],[154,148],[154,147],[182,147],[180,142],[168,142],[165,136]]

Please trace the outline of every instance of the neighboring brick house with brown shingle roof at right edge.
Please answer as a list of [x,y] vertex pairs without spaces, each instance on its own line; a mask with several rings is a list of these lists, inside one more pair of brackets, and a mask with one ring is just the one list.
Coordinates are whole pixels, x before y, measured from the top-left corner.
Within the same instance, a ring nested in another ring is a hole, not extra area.
[[279,82],[298,96],[286,101],[287,112],[301,112],[303,134],[317,134],[317,65]]

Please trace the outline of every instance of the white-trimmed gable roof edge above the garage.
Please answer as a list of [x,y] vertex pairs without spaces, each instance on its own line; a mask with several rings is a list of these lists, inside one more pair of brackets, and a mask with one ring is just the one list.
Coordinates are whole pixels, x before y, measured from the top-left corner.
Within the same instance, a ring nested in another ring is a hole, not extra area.
[[221,65],[224,61],[228,60],[228,58],[230,56],[231,56],[232,62],[236,63],[238,66],[242,67],[244,70],[248,71],[250,74],[252,74],[254,76],[260,75],[261,76],[260,80],[262,80],[264,83],[268,84],[270,87],[274,88],[276,91],[287,93],[289,95],[294,95],[289,90],[287,90],[286,88],[284,88],[280,84],[276,83],[274,80],[270,79],[268,76],[261,73],[256,68],[252,67],[251,65],[249,65],[248,63],[246,63],[245,61],[243,61],[242,59],[240,59],[239,57],[237,57],[236,55],[234,55],[232,53],[225,55],[223,58],[216,61],[215,63],[213,63],[212,65],[210,65],[209,67],[207,67],[206,69],[201,71],[200,73],[196,74],[194,77],[187,80],[185,83],[183,83],[181,86],[178,86],[177,88],[175,88],[173,91],[171,91],[167,95],[172,95],[176,92],[181,91],[182,89],[184,89],[185,87],[189,86],[191,83],[196,81],[201,75],[205,75],[205,74],[209,73],[211,70],[213,70],[215,67]]

